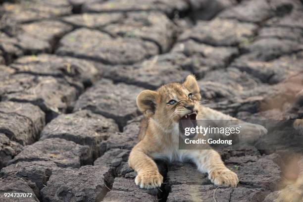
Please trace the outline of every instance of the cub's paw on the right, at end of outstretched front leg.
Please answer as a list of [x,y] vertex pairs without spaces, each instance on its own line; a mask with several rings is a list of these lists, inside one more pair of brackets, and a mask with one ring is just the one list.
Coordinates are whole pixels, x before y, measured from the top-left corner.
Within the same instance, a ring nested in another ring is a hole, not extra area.
[[237,174],[227,168],[209,172],[208,178],[215,185],[237,187],[239,182]]

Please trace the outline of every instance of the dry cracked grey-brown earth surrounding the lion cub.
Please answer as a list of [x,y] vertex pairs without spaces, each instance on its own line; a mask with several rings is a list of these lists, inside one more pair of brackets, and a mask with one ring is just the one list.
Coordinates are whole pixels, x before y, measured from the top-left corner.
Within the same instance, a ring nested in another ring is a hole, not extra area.
[[219,151],[237,188],[159,161],[142,190],[127,164],[136,96],[189,74],[216,110],[302,119],[302,0],[0,0],[0,17],[0,194],[33,194],[0,201],[272,202],[303,174],[302,145]]

